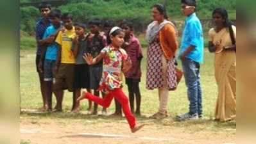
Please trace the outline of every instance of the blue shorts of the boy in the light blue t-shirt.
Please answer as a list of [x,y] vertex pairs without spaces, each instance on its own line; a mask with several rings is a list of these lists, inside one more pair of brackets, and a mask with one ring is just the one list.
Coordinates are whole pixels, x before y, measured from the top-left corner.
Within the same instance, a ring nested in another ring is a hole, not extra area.
[[55,67],[56,60],[44,60],[44,81],[53,81],[55,78]]

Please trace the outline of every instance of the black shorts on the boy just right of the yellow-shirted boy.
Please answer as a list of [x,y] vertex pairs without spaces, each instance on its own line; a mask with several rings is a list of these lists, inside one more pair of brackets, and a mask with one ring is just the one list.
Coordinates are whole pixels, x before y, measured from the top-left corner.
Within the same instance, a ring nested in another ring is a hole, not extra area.
[[90,74],[89,65],[74,65],[74,89],[89,88]]

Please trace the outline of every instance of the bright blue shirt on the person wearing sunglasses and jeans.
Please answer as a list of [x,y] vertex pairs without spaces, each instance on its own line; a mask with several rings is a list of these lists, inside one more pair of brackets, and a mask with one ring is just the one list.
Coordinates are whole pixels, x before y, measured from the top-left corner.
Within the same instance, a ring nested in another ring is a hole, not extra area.
[[192,13],[185,19],[179,56],[190,45],[195,48],[185,57],[198,63],[203,63],[203,28],[200,20],[196,17],[196,13]]

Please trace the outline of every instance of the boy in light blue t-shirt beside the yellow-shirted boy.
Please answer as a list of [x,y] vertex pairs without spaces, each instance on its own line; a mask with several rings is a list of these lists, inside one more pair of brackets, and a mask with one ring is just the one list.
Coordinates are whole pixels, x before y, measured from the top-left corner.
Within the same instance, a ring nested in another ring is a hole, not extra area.
[[[61,12],[60,10],[52,10],[49,13],[49,20],[52,26],[49,26],[44,32],[43,40],[48,44],[46,56],[44,59],[44,83],[47,97],[47,109],[52,110],[53,81],[55,80],[55,65],[59,45],[55,42],[55,36],[61,28]],[[63,93],[63,92],[62,92]],[[57,98],[57,97],[56,97]]]

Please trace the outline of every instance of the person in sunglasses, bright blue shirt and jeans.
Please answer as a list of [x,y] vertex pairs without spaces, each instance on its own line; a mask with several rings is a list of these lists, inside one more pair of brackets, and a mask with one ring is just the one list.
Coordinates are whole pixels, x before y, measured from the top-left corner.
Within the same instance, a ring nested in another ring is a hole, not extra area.
[[200,64],[203,63],[203,29],[195,10],[195,0],[182,0],[182,12],[187,18],[178,57],[182,60],[190,104],[189,113],[178,115],[176,117],[178,120],[198,119],[203,114],[200,84]]

